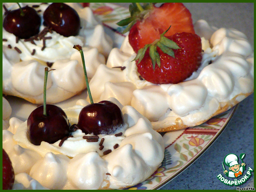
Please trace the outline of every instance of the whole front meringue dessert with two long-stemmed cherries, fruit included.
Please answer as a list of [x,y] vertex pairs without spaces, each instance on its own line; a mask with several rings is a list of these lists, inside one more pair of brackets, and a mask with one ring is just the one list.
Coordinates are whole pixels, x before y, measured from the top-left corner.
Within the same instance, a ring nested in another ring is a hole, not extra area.
[[[82,56],[82,47],[74,46]],[[3,149],[15,174],[14,189],[119,189],[150,177],[164,159],[164,140],[151,123],[115,98],[78,100],[62,110],[44,104],[28,120],[10,119]],[[51,71],[52,72],[52,71]],[[4,152],[3,152],[4,153]],[[125,157],[125,158],[124,158]]]

